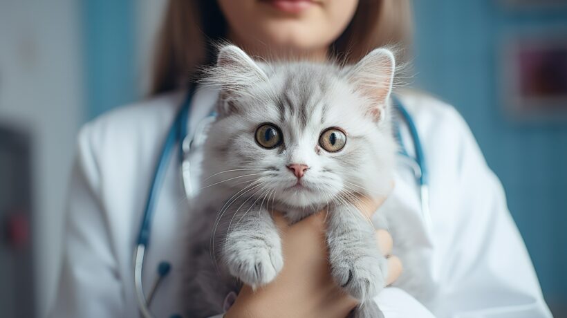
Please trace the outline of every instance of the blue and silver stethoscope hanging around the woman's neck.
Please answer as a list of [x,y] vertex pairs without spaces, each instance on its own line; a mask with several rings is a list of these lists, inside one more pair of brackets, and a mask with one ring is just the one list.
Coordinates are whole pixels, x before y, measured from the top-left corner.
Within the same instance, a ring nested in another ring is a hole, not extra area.
[[[189,135],[187,133],[189,127],[189,110],[191,102],[193,100],[193,95],[195,93],[195,86],[192,85],[187,91],[187,96],[180,109],[178,110],[173,124],[167,133],[165,142],[162,145],[162,151],[156,165],[154,172],[154,178],[149,187],[149,194],[147,197],[144,214],[142,215],[142,224],[140,225],[140,233],[138,234],[138,240],[136,241],[136,247],[134,249],[134,288],[136,288],[136,298],[138,299],[138,308],[140,313],[145,318],[154,317],[149,310],[149,305],[151,300],[154,298],[154,293],[156,292],[160,281],[169,274],[171,270],[171,264],[167,261],[162,261],[158,265],[157,277],[154,284],[151,287],[149,293],[145,294],[144,288],[142,286],[142,270],[144,267],[144,257],[146,254],[147,247],[149,245],[149,234],[151,230],[151,220],[154,216],[154,210],[156,201],[158,198],[158,192],[160,186],[163,184],[165,178],[165,171],[167,170],[167,164],[170,161],[171,155],[174,153],[176,144],[179,147],[179,160],[181,162],[181,177],[183,179],[183,188],[185,190],[185,195],[187,198],[192,196],[193,190],[191,185],[191,180],[189,178],[189,170],[191,168],[189,162],[189,151],[196,135],[196,131],[201,131],[216,117],[215,113],[210,113],[205,119],[203,119],[194,132]],[[409,164],[412,168],[413,174],[416,177],[416,181],[420,187],[420,200],[421,200],[421,210],[422,217],[426,227],[429,229],[431,226],[431,215],[429,214],[429,184],[427,176],[427,167],[425,165],[425,158],[423,154],[422,144],[418,135],[418,130],[416,124],[413,122],[411,115],[409,115],[407,109],[403,106],[402,102],[398,97],[392,97],[394,107],[402,120],[407,125],[411,139],[413,140],[413,147],[415,151],[415,158],[409,156],[406,151],[405,145],[402,141],[401,129],[399,125],[399,120],[396,121],[396,137],[400,143],[400,158],[403,158],[405,162]],[[180,317],[179,315],[174,315],[171,317]]]

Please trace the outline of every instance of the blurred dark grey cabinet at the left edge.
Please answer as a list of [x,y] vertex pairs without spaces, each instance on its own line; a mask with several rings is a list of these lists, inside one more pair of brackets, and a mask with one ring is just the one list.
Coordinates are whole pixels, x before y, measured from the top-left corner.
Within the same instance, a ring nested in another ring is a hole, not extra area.
[[0,124],[0,317],[35,317],[30,139]]

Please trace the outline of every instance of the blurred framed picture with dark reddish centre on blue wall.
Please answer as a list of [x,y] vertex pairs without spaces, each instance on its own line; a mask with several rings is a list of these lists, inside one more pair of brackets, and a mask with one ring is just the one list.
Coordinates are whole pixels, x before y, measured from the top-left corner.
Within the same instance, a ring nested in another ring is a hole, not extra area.
[[567,120],[566,39],[567,32],[505,41],[501,87],[512,117]]

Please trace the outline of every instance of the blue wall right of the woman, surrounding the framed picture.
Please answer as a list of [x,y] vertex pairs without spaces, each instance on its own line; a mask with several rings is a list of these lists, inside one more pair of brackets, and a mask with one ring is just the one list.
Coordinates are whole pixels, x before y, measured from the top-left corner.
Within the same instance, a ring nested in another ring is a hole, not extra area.
[[567,119],[514,122],[499,91],[502,39],[567,30],[567,8],[516,10],[502,2],[414,1],[416,86],[454,104],[470,124],[505,187],[546,297],[567,302]]

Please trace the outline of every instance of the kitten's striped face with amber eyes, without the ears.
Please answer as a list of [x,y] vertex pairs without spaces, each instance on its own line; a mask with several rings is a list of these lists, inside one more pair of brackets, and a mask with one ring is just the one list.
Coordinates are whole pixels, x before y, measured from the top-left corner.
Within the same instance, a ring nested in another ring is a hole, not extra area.
[[334,66],[285,64],[263,72],[266,78],[238,94],[221,93],[203,176],[234,171],[205,183],[225,180],[235,193],[294,207],[387,190],[395,144],[385,105],[374,109],[377,117],[373,101]]

